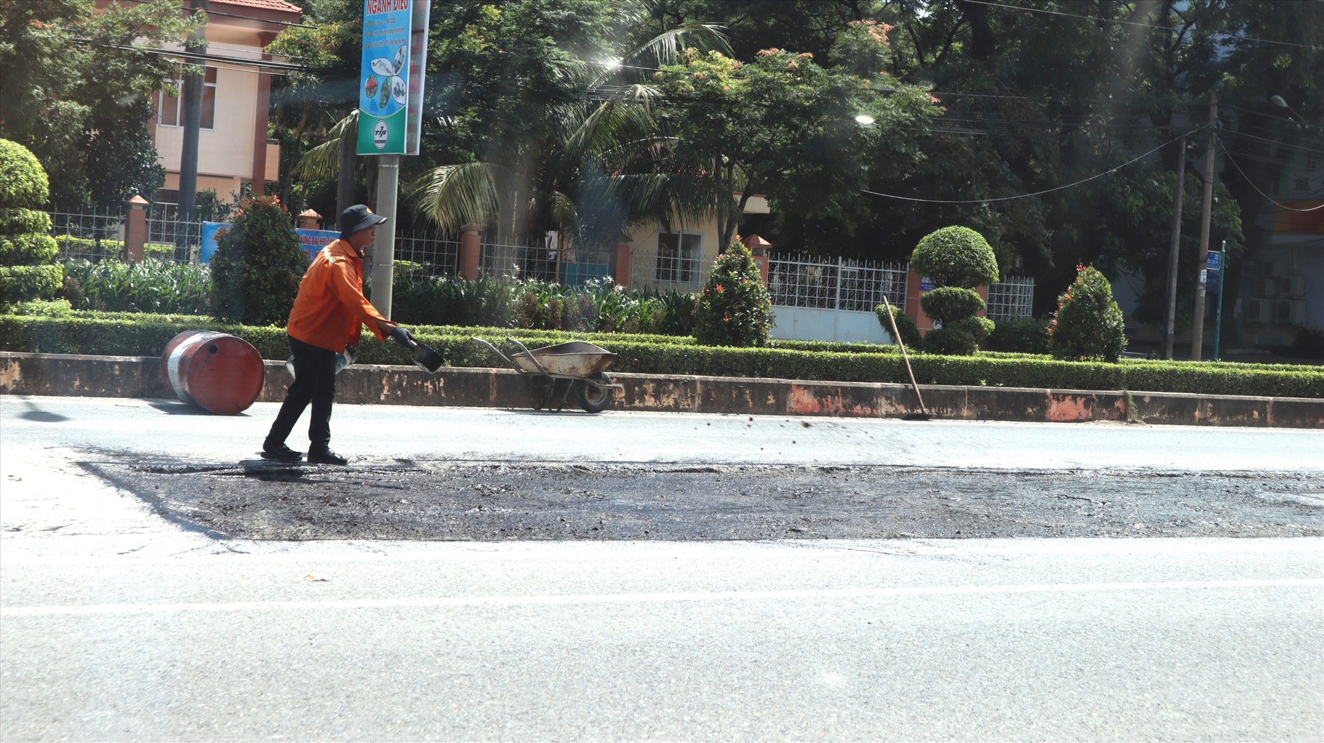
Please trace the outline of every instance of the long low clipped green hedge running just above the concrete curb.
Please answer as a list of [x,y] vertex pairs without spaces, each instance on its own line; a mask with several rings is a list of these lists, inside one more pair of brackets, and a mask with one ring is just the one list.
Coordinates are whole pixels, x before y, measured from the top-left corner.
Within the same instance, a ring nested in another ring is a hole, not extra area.
[[[283,327],[244,327],[187,315],[140,315],[79,313],[75,317],[0,315],[0,348],[48,354],[102,354],[124,356],[159,355],[171,338],[184,330],[229,332],[253,343],[267,359],[289,356]],[[621,372],[694,373],[831,381],[906,383],[900,354],[806,351],[780,347],[703,347],[671,336],[567,334],[478,327],[418,327],[418,338],[455,367],[504,367],[491,351],[474,343],[478,335],[507,351],[506,338],[519,338],[535,347],[577,338],[598,343],[621,355],[613,367]],[[788,343],[788,342],[782,342]],[[804,344],[800,342],[798,344]],[[818,344],[825,346],[825,344]],[[891,347],[873,347],[891,348]],[[359,362],[408,364],[405,351],[392,342],[364,335]],[[1319,367],[1234,363],[1152,362],[1137,359],[1117,364],[1059,362],[1018,354],[977,356],[911,356],[915,376],[924,384],[1030,387],[1057,389],[1132,389],[1147,392],[1198,392],[1206,395],[1258,395],[1324,397],[1324,370]]]

